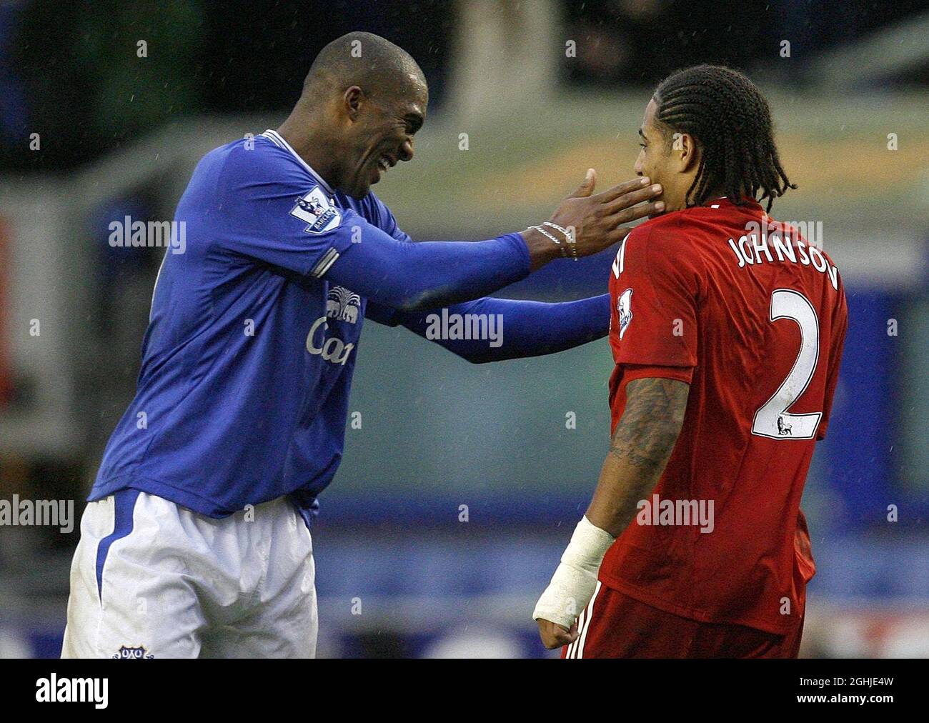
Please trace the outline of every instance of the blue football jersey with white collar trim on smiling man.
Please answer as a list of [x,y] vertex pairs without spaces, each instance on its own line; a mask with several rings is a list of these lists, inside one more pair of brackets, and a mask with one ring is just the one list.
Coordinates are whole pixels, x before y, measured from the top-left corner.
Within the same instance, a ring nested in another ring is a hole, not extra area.
[[409,241],[373,193],[334,191],[275,131],[203,157],[89,500],[129,487],[224,517],[290,494],[308,521],[342,456],[366,307],[323,275],[357,217]]

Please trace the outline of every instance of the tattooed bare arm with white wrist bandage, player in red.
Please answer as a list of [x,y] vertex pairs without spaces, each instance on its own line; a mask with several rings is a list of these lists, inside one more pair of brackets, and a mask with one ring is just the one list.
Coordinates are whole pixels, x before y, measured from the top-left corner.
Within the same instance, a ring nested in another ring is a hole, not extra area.
[[654,490],[674,450],[689,389],[685,382],[664,378],[634,379],[626,385],[625,409],[594,498],[532,613],[546,648],[577,639],[575,618],[594,594],[603,556],[635,519],[638,501]]

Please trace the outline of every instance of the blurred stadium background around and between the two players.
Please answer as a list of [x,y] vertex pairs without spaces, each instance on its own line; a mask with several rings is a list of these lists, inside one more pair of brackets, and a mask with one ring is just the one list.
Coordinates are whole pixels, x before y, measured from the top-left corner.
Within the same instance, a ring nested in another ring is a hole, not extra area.
[[[173,217],[203,153],[279,125],[316,53],[353,30],[429,81],[417,158],[376,190],[420,240],[525,228],[588,166],[630,177],[650,91],[676,68],[726,63],[763,87],[799,183],[774,216],[815,230],[851,316],[805,494],[804,654],[929,654],[929,4],[7,0],[0,500],[72,500],[75,529],[0,526],[0,656],[58,654],[84,496],[133,393],[164,249],[112,248],[108,224]],[[502,296],[599,294],[610,261]],[[361,427],[314,530],[321,654],[543,655],[530,612],[595,485],[610,368],[605,340],[475,367],[369,324]]]

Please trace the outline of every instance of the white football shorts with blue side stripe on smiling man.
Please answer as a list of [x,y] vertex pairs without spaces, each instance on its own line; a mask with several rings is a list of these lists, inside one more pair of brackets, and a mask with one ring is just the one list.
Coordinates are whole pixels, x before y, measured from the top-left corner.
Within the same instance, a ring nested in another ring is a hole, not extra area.
[[312,658],[313,543],[281,497],[213,519],[122,490],[86,506],[62,658]]

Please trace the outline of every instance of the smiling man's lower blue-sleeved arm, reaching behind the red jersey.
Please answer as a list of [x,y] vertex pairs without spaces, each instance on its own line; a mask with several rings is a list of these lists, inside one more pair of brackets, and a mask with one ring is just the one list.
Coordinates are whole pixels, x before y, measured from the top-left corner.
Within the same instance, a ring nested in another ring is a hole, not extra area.
[[[579,347],[609,331],[609,295],[580,301],[545,303],[479,298],[444,309],[404,312],[368,304],[375,322],[402,325],[447,348],[468,362],[481,364],[537,357]],[[450,338],[452,324],[472,338]]]

